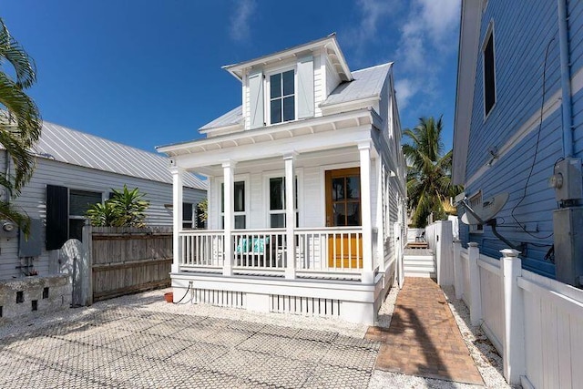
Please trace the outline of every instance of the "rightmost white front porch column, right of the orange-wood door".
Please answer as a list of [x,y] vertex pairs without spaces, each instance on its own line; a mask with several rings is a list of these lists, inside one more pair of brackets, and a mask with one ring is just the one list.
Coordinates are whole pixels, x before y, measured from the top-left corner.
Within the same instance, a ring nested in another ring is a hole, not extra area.
[[363,272],[362,282],[373,283],[373,221],[371,210],[371,142],[358,144],[361,162],[361,211],[363,212]]

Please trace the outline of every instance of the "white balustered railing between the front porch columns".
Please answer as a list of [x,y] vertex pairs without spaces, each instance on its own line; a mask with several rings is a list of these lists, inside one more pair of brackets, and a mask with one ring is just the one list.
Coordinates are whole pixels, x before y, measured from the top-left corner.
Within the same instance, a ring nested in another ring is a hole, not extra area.
[[[287,268],[285,229],[233,230],[228,243],[223,230],[183,230],[179,237],[182,251],[179,267],[184,271],[221,271],[225,264],[225,244],[231,245],[235,272],[282,276]],[[375,243],[373,239],[373,246]],[[362,228],[296,229],[294,244],[295,271],[299,275],[337,274],[354,278],[363,270]]]

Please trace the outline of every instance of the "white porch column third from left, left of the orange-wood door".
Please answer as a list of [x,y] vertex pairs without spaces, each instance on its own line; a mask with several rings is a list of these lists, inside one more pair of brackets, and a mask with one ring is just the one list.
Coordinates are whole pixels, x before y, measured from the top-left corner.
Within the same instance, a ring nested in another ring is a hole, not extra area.
[[292,280],[295,279],[295,177],[293,174],[295,156],[294,152],[283,156],[285,162],[285,278]]

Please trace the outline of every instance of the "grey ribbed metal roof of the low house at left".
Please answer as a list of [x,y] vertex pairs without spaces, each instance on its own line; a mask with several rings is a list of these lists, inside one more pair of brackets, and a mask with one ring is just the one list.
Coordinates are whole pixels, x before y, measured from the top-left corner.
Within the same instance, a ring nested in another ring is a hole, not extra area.
[[[139,179],[172,183],[169,159],[164,156],[46,121],[43,122],[41,137],[33,152],[40,158]],[[206,181],[193,174],[184,175],[184,185],[194,189],[207,189]]]

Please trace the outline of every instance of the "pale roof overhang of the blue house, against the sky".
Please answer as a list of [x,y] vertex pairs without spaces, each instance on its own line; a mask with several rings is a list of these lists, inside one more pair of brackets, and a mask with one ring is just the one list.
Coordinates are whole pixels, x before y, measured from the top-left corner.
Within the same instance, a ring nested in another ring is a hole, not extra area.
[[462,2],[452,169],[452,181],[455,185],[465,184],[465,168],[476,85],[476,61],[479,51],[482,2],[483,0],[464,0]]

